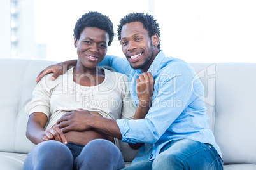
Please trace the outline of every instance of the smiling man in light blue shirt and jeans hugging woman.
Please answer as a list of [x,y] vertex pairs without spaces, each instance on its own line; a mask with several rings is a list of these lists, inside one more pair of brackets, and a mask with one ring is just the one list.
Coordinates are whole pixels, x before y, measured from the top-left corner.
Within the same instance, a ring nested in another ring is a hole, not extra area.
[[[106,56],[101,63],[129,76],[129,91],[136,105],[141,105],[135,93],[136,79],[145,72],[152,73],[152,106],[144,119],[103,120],[85,111],[76,119],[78,112],[69,112],[57,122],[59,128],[63,132],[97,129],[125,142],[145,143],[125,169],[223,169],[204,101],[195,95],[204,96],[203,84],[199,79],[194,81],[196,73],[187,63],[160,51],[159,37],[159,25],[151,15],[130,13],[118,27],[127,60]],[[54,71],[55,77],[62,72]]]

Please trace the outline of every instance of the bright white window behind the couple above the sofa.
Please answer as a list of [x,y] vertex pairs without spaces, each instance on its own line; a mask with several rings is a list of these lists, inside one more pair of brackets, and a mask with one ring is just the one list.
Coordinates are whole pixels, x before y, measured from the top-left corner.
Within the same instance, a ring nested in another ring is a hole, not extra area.
[[[159,22],[161,49],[167,56],[187,62],[256,63],[255,9],[254,0],[4,1],[0,57],[75,59],[73,28],[83,13],[109,16],[116,31],[120,18],[143,12]],[[108,55],[124,56],[117,36]]]

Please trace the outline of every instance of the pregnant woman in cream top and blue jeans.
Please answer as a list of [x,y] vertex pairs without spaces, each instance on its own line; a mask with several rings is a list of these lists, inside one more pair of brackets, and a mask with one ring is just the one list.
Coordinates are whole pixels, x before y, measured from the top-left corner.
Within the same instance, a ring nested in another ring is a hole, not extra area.
[[[29,114],[27,138],[37,145],[27,155],[24,169],[124,167],[122,154],[114,145],[118,144],[117,139],[94,130],[63,134],[56,124],[62,115],[77,108],[107,119],[140,119],[147,113],[145,108],[136,110],[134,107],[126,75],[98,67],[113,35],[113,24],[101,13],[86,13],[76,22],[76,67],[55,81],[50,80],[51,74],[43,77],[26,107]],[[151,95],[143,94],[143,98],[148,101]]]

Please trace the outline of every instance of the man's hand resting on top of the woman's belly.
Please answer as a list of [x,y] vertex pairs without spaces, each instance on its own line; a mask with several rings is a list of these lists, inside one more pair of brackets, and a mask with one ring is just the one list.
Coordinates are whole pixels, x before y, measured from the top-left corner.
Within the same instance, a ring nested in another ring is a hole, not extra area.
[[93,116],[89,111],[82,109],[68,112],[57,121],[57,127],[63,133],[68,131],[86,131],[90,129],[89,119]]

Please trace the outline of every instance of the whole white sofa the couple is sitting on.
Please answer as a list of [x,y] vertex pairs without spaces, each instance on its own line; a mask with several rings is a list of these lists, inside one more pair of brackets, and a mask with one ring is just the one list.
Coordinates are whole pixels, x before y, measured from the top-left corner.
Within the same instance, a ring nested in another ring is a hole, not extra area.
[[[22,169],[34,145],[25,136],[36,77],[45,60],[0,59],[0,169]],[[191,63],[204,84],[210,128],[224,159],[224,169],[256,169],[256,63]],[[203,97],[203,96],[199,96]],[[121,146],[127,166],[136,151]]]

